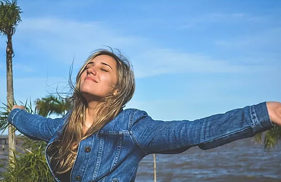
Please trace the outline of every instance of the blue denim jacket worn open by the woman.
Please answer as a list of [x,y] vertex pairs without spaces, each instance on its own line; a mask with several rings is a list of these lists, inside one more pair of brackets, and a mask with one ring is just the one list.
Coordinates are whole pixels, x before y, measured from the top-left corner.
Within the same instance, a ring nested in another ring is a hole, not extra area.
[[[46,141],[48,148],[63,131],[70,112],[51,119],[15,108],[8,121],[29,138]],[[145,111],[128,108],[79,143],[71,181],[135,181],[138,164],[148,154],[178,154],[196,145],[207,150],[272,127],[266,102],[194,121],[153,120]],[[46,151],[45,156],[50,167]]]

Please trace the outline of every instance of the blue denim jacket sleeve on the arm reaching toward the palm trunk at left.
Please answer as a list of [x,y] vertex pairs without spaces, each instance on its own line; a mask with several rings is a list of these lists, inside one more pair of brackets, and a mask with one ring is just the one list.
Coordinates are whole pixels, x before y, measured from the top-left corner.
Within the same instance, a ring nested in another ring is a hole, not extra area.
[[27,113],[19,108],[14,108],[8,115],[8,122],[30,139],[48,142],[59,124],[64,122],[69,114],[70,112],[63,118],[51,119],[37,114]]

